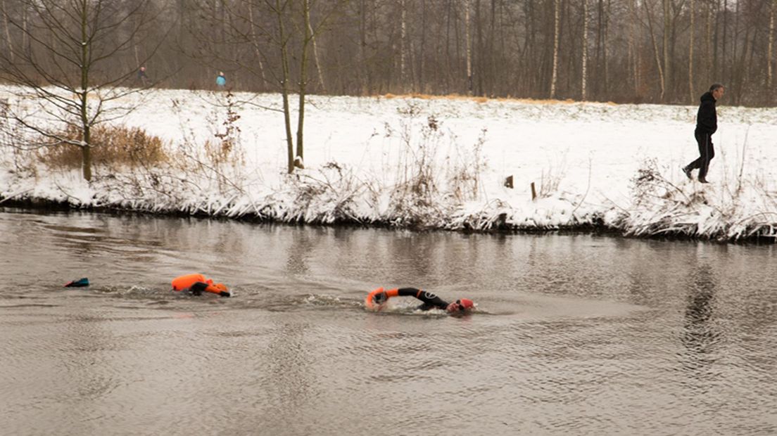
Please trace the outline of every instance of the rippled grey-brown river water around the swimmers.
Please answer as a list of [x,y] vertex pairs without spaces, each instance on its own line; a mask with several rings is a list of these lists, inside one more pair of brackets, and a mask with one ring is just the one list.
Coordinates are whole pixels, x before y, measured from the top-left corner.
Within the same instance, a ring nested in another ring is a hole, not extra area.
[[772,245],[19,209],[0,243],[2,434],[777,433]]

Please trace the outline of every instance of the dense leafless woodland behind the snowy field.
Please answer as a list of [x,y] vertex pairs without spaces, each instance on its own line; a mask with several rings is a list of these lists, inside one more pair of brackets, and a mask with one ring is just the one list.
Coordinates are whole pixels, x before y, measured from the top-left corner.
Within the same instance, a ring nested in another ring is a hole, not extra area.
[[[71,41],[30,29],[57,26],[56,18],[45,17],[68,13],[66,4],[91,2],[62,0],[59,7],[59,2],[2,0],[2,60],[18,62],[28,75],[44,71],[38,76],[43,82],[47,74],[70,74],[56,56],[19,53],[38,50],[37,35],[51,38],[44,40],[50,47],[76,50]],[[294,92],[304,81],[307,92],[329,95],[690,104],[711,83],[721,82],[728,104],[772,106],[777,99],[777,0],[94,4],[123,17],[100,33],[115,41],[110,53],[103,53],[110,63],[91,73],[120,78],[117,85],[138,85],[138,77],[124,71],[145,66],[153,85],[168,88],[214,88],[218,71],[224,71],[228,88],[255,92],[278,92],[284,85]],[[44,7],[49,9],[41,11]],[[88,26],[103,22],[94,19]]]

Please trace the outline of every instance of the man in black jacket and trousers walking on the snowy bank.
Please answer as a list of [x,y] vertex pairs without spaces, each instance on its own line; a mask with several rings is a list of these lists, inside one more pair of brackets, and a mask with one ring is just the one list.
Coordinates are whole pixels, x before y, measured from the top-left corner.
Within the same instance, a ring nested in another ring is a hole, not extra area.
[[696,143],[699,144],[699,159],[692,161],[682,168],[682,171],[688,178],[691,177],[691,171],[699,168],[699,182],[707,182],[707,168],[709,161],[715,157],[713,149],[713,133],[718,130],[718,113],[715,109],[715,102],[723,97],[723,85],[716,83],[709,87],[709,92],[702,95],[702,103],[699,105],[699,112],[696,114],[696,130],[694,136]]

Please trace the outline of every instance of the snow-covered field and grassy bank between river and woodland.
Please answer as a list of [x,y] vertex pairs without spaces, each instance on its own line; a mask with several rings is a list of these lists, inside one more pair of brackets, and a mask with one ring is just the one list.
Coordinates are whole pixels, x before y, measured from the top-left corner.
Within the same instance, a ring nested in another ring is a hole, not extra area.
[[[0,98],[31,110],[11,88]],[[709,185],[680,170],[698,157],[696,106],[312,95],[305,169],[288,176],[280,95],[149,90],[114,104],[138,106],[114,123],[161,137],[171,161],[96,167],[89,184],[77,170],[20,170],[23,157],[2,147],[0,198],[451,230],[777,236],[777,109],[725,97]],[[239,119],[228,132],[230,108]],[[224,133],[234,146],[214,159]]]

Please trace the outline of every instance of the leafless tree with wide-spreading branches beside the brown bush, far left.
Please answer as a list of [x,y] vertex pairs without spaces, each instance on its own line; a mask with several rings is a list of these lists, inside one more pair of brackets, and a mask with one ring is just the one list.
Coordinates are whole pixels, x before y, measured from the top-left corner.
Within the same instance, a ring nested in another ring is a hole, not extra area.
[[[120,88],[134,78],[136,66],[121,67],[121,57],[134,56],[134,40],[155,21],[157,11],[148,0],[19,0],[30,16],[21,17],[2,3],[2,16],[23,35],[26,43],[2,55],[0,74],[5,81],[30,93],[37,112],[12,116],[26,130],[43,138],[33,147],[71,145],[82,152],[82,174],[92,180],[92,128],[124,116],[131,107],[109,109],[134,89]],[[159,44],[151,47],[152,57]],[[78,137],[68,135],[68,130]]]

